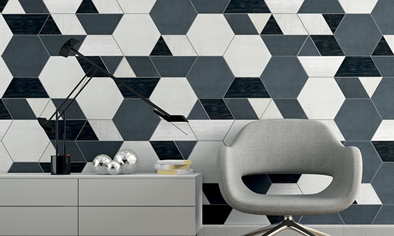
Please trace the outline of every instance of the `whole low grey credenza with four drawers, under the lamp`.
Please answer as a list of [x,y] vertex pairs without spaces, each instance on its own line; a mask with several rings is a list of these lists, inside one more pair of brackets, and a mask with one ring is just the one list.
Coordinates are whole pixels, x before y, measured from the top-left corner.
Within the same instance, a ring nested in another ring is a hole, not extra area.
[[202,175],[0,175],[0,235],[196,235]]

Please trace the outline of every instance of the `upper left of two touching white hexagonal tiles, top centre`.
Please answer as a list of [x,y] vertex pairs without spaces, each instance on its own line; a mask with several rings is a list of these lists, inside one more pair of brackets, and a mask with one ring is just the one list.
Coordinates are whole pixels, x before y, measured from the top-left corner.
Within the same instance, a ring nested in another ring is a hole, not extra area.
[[198,14],[187,37],[199,56],[223,56],[234,32],[223,14]]

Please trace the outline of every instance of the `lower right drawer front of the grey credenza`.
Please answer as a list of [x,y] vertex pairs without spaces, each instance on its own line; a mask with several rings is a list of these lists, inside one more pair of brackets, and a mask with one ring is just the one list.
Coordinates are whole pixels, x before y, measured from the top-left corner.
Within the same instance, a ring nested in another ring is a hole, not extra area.
[[79,235],[196,235],[194,207],[80,207]]

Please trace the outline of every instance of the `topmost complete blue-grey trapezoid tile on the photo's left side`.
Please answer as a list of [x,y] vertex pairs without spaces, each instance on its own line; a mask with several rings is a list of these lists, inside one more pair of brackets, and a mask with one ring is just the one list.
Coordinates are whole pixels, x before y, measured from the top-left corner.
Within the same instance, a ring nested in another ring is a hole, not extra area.
[[88,35],[112,35],[123,14],[77,14]]

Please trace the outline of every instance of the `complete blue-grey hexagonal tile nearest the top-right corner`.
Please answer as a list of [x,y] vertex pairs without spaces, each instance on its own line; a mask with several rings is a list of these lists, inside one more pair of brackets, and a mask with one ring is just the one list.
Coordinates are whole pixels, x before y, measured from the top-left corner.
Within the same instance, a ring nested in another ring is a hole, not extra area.
[[371,55],[381,37],[370,14],[346,14],[335,31],[346,56]]

